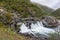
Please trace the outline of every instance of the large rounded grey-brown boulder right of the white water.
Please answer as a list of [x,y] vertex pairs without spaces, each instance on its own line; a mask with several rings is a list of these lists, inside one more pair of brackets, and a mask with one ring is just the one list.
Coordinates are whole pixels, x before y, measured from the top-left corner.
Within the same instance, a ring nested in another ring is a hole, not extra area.
[[45,27],[57,27],[59,25],[58,20],[52,16],[42,17],[42,23]]

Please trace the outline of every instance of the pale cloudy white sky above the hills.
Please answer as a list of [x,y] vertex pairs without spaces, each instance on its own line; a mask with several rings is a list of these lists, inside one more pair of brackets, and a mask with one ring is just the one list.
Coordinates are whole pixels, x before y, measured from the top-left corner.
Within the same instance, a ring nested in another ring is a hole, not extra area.
[[60,8],[60,0],[31,0],[31,2],[36,2],[55,10]]

